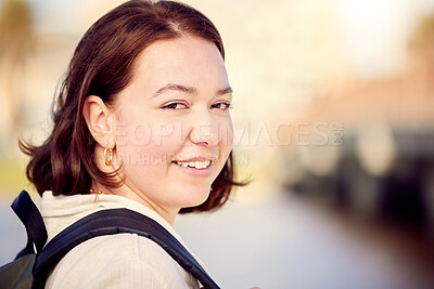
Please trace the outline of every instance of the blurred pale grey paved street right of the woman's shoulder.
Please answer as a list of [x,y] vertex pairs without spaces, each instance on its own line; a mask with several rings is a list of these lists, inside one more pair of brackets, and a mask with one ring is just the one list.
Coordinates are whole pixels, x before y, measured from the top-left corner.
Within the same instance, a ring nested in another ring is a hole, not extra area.
[[222,288],[432,288],[432,268],[410,262],[414,248],[349,229],[335,218],[272,194],[215,214],[181,216],[175,226]]

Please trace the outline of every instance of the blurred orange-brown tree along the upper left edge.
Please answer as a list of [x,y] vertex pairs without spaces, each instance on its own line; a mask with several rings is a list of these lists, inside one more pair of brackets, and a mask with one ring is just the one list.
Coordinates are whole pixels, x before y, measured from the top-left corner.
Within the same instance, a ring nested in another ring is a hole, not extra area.
[[[2,128],[7,137],[20,131],[22,97],[20,88],[26,61],[34,50],[35,34],[31,11],[23,0],[7,0],[0,11],[0,76],[4,95],[3,114],[9,115],[9,128]],[[5,132],[9,131],[9,132]],[[8,135],[9,134],[9,135]],[[16,143],[15,140],[13,142]]]

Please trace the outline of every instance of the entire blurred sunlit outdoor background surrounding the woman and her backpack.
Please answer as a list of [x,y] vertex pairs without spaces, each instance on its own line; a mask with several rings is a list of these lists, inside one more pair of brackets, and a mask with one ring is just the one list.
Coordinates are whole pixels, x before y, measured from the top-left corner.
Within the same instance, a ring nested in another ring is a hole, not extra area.
[[[86,29],[123,1],[0,0],[0,265],[17,137],[43,141]],[[175,227],[222,288],[433,288],[434,0],[189,0],[219,28],[253,182]]]

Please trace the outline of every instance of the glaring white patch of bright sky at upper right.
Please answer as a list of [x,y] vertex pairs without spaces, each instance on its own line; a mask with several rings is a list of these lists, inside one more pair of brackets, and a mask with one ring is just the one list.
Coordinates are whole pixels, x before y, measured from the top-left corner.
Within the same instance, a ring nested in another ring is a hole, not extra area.
[[340,0],[343,39],[356,74],[401,69],[416,17],[433,8],[434,0]]

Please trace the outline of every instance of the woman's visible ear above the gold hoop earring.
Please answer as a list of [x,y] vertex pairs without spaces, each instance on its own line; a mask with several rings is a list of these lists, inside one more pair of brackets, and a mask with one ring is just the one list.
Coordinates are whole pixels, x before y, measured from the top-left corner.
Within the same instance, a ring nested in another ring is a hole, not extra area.
[[95,95],[89,95],[85,100],[82,115],[90,133],[102,147],[115,147],[115,129],[112,121],[113,114],[107,106]]

